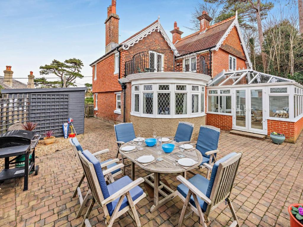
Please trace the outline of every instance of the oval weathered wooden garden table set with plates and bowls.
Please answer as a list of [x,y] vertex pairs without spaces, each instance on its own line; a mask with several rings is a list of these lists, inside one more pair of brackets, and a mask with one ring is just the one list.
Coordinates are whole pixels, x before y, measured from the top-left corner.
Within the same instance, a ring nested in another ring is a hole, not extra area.
[[[170,143],[170,142],[168,142]],[[158,155],[156,146],[146,146],[146,144],[143,142],[141,147],[144,148],[144,150],[132,150],[129,152],[122,151],[121,148],[124,146],[137,146],[138,145],[132,141],[123,144],[120,147],[120,154],[124,156],[125,158],[128,158],[132,162],[132,180],[135,180],[135,164],[140,166],[142,169],[145,169],[147,171],[150,171],[151,174],[144,177],[144,180],[146,183],[148,183],[151,187],[154,188],[154,205],[151,206],[150,212],[153,212],[157,210],[159,207],[164,205],[166,202],[170,201],[171,199],[175,198],[177,194],[174,190],[172,190],[170,187],[165,185],[160,180],[160,173],[180,173],[183,177],[186,178],[186,171],[191,170],[199,166],[203,160],[203,157],[201,153],[196,150],[184,150],[182,153],[179,149],[179,143],[175,144],[175,149],[171,153],[164,153],[162,152],[161,155]],[[176,160],[180,159],[178,155],[183,154],[187,158],[191,158],[197,163],[190,167],[182,167],[178,164]],[[156,158],[161,157],[164,160],[157,161],[154,160],[153,162],[150,162],[148,164],[139,163],[137,161],[137,158],[143,155],[152,155]],[[167,194],[164,190],[168,192],[171,192]],[[163,196],[164,198],[159,200],[159,194]]]

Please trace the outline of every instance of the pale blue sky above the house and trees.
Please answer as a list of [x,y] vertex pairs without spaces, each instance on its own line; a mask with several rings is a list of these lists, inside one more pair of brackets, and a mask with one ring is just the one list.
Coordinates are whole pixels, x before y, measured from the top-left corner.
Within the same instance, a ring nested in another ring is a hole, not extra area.
[[[184,26],[191,26],[197,2],[117,0],[119,42],[151,24],[158,15],[170,38],[174,21],[184,32],[182,37],[191,34]],[[83,61],[85,77],[76,80],[77,86],[92,83],[89,64],[105,54],[104,22],[109,5],[111,0],[0,0],[0,75],[10,65],[13,78],[27,83],[30,71],[35,78],[42,77],[41,65],[54,59],[78,58]]]

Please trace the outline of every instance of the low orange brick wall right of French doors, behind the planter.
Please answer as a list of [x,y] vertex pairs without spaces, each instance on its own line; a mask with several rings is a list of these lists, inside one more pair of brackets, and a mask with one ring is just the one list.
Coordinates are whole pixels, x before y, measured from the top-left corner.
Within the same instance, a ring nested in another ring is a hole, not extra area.
[[270,133],[277,132],[285,134],[285,140],[295,143],[303,129],[303,118],[297,122],[267,120],[268,137]]

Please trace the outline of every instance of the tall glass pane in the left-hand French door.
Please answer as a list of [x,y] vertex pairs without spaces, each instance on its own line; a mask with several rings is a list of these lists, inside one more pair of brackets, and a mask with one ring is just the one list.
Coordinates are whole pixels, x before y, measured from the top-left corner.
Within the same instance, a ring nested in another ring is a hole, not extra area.
[[246,91],[236,90],[236,126],[246,127]]

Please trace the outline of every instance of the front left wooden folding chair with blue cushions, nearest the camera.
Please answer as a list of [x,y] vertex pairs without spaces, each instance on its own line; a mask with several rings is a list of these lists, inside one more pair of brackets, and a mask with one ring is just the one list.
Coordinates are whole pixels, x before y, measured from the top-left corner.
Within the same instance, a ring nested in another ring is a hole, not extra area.
[[[129,176],[123,176],[113,183],[106,185],[104,173],[102,173],[96,157],[88,150],[82,153],[79,151],[78,154],[88,186],[93,195],[92,202],[83,218],[81,227],[84,227],[85,224],[86,226],[90,226],[85,223],[85,220],[88,219],[95,202],[103,209],[106,226],[111,227],[116,218],[131,210],[137,227],[141,227],[135,204],[146,196],[138,186],[144,182],[144,179],[140,177],[132,181]],[[132,217],[132,215],[130,216]]]

